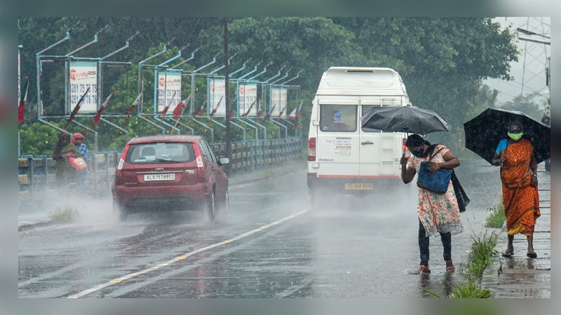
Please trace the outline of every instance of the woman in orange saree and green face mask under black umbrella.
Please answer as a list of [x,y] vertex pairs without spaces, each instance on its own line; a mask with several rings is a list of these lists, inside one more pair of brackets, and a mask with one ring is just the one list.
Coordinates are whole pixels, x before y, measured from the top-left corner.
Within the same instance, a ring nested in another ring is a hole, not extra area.
[[514,235],[526,235],[529,258],[534,252],[534,226],[539,218],[538,165],[534,158],[534,146],[524,139],[522,125],[509,124],[508,139],[502,139],[496,148],[492,164],[501,165],[503,207],[506,216],[508,246],[503,257],[514,254]]

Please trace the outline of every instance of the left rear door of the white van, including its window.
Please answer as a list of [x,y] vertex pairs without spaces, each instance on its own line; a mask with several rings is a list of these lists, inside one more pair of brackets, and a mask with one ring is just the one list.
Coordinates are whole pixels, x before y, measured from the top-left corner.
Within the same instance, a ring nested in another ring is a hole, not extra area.
[[321,96],[317,98],[319,125],[316,158],[320,178],[358,176],[358,97]]

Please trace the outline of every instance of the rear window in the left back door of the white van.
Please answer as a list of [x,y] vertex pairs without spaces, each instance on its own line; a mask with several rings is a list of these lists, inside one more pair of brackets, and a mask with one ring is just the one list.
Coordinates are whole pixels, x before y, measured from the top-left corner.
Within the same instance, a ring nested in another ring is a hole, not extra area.
[[356,105],[320,104],[322,132],[356,132]]

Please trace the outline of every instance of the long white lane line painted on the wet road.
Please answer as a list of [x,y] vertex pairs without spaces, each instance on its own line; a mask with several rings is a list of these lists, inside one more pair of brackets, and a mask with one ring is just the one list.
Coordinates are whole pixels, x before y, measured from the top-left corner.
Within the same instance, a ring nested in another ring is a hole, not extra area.
[[148,269],[141,270],[140,272],[133,272],[132,274],[127,274],[126,276],[121,276],[121,278],[113,279],[113,280],[111,280],[111,281],[108,281],[108,282],[106,282],[106,283],[100,284],[99,286],[95,286],[95,287],[90,288],[90,289],[88,289],[88,290],[83,290],[83,291],[81,291],[80,293],[76,293],[76,294],[74,294],[74,295],[70,295],[70,296],[67,297],[67,298],[68,298],[68,299],[76,299],[76,298],[78,298],[78,297],[83,297],[84,295],[88,295],[88,294],[90,294],[90,293],[92,293],[92,292],[95,292],[95,291],[97,291],[97,290],[101,290],[102,288],[106,288],[107,286],[112,286],[112,285],[114,285],[114,284],[116,284],[116,283],[121,283],[121,281],[128,280],[128,279],[133,278],[133,277],[135,277],[135,276],[140,276],[141,274],[146,274],[146,273],[151,272],[151,271],[154,271],[154,270],[156,270],[156,269],[160,269],[161,267],[165,267],[165,266],[171,265],[171,264],[173,264],[174,262],[178,262],[178,261],[180,261],[180,260],[183,260],[183,259],[185,259],[185,258],[187,258],[187,257],[189,257],[189,256],[191,256],[191,255],[195,255],[196,253],[201,253],[202,251],[206,251],[206,250],[211,249],[211,248],[215,248],[215,247],[218,247],[218,246],[221,246],[221,245],[224,245],[224,244],[228,244],[228,243],[231,243],[232,241],[237,241],[238,239],[243,239],[243,237],[248,237],[249,235],[252,235],[252,234],[257,233],[257,232],[259,232],[259,231],[265,230],[266,228],[271,228],[271,226],[273,226],[273,225],[277,225],[277,224],[282,223],[282,222],[284,222],[284,221],[290,220],[291,218],[295,218],[295,217],[297,217],[297,216],[299,216],[299,215],[301,215],[301,214],[305,214],[305,213],[308,212],[308,211],[309,211],[309,210],[304,210],[304,211],[298,212],[297,214],[291,214],[290,216],[287,216],[286,218],[281,218],[281,219],[278,220],[278,221],[275,221],[275,222],[273,222],[273,223],[269,223],[269,224],[263,225],[261,228],[257,228],[257,229],[255,229],[255,230],[252,230],[252,231],[249,231],[249,232],[245,232],[245,233],[243,233],[242,235],[238,235],[237,237],[234,237],[234,238],[231,238],[231,239],[227,239],[227,240],[225,240],[225,241],[221,241],[221,242],[219,242],[219,243],[212,244],[212,245],[209,245],[209,246],[206,246],[206,247],[203,247],[203,248],[199,248],[199,249],[197,249],[196,251],[191,251],[190,253],[184,253],[183,255],[177,256],[176,258],[173,258],[172,260],[168,260],[167,262],[162,262],[161,264],[158,264],[158,265],[156,265],[156,266],[154,266],[154,267],[150,267],[150,268],[148,268]]

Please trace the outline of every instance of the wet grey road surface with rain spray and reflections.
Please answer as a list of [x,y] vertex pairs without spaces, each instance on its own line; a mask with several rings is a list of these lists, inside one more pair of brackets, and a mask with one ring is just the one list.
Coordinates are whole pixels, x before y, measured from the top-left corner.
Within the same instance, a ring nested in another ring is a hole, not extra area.
[[[498,169],[464,163],[471,197],[452,236],[457,269],[471,235],[485,232],[500,193]],[[439,237],[429,275],[417,269],[411,185],[365,198],[330,197],[310,211],[305,170],[230,187],[217,221],[192,212],[133,214],[117,223],[111,200],[81,202],[72,225],[20,232],[19,297],[430,297],[463,281],[447,274]],[[412,188],[415,190],[416,188]]]

